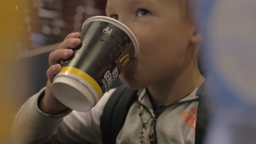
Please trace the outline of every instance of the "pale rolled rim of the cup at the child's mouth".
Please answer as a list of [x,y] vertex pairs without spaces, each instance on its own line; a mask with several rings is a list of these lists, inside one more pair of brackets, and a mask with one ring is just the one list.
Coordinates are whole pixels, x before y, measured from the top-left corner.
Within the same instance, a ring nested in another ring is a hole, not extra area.
[[87,19],[82,26],[82,29],[84,28],[84,26],[89,23],[89,22],[93,22],[93,21],[104,21],[104,22],[108,22],[111,23],[112,25],[117,26],[118,28],[122,29],[132,40],[133,46],[135,47],[135,53],[133,57],[136,57],[138,55],[138,49],[139,49],[139,44],[138,44],[138,40],[135,37],[135,35],[132,33],[131,29],[127,26],[124,25],[124,23],[121,23],[118,20],[115,20],[111,17],[107,17],[107,16],[93,16],[90,17],[89,19]]

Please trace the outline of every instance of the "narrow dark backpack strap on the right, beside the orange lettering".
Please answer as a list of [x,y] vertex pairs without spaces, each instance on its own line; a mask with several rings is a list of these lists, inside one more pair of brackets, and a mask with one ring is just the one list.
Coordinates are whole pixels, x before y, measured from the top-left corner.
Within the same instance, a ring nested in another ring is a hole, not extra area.
[[196,131],[195,131],[195,144],[201,144],[205,140],[205,134],[207,132],[208,121],[210,119],[207,101],[206,101],[206,88],[205,84],[199,87],[196,95],[200,97],[199,105],[196,116]]

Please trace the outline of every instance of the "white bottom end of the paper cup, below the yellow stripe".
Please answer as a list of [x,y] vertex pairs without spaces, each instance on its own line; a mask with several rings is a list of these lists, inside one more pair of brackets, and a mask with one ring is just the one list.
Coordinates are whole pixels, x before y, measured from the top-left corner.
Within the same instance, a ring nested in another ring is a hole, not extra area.
[[75,111],[88,112],[96,104],[90,89],[72,77],[55,77],[51,90],[62,104]]

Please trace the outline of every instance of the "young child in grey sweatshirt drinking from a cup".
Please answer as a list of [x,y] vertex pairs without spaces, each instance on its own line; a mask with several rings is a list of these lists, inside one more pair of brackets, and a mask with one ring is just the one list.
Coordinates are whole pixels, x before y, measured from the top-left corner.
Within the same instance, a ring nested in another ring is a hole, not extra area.
[[[195,143],[196,92],[204,82],[197,66],[200,35],[189,0],[108,0],[106,14],[135,34],[139,52],[120,79],[140,89],[115,143]],[[49,55],[46,88],[30,98],[16,116],[15,136],[24,143],[102,143],[100,118],[110,89],[91,111],[69,110],[51,92],[60,62],[80,44],[79,33],[67,35]],[[114,127],[114,126],[113,126]]]

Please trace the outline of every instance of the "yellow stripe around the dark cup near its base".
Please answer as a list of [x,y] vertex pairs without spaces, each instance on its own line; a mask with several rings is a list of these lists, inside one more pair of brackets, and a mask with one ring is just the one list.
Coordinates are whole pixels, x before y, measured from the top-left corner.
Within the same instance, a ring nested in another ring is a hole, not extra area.
[[100,85],[98,85],[98,83],[90,75],[86,74],[84,71],[77,69],[77,68],[73,68],[73,67],[63,67],[60,70],[60,73],[61,72],[71,73],[71,74],[81,77],[95,89],[95,91],[98,94],[99,99],[102,97],[103,94],[102,94]]

